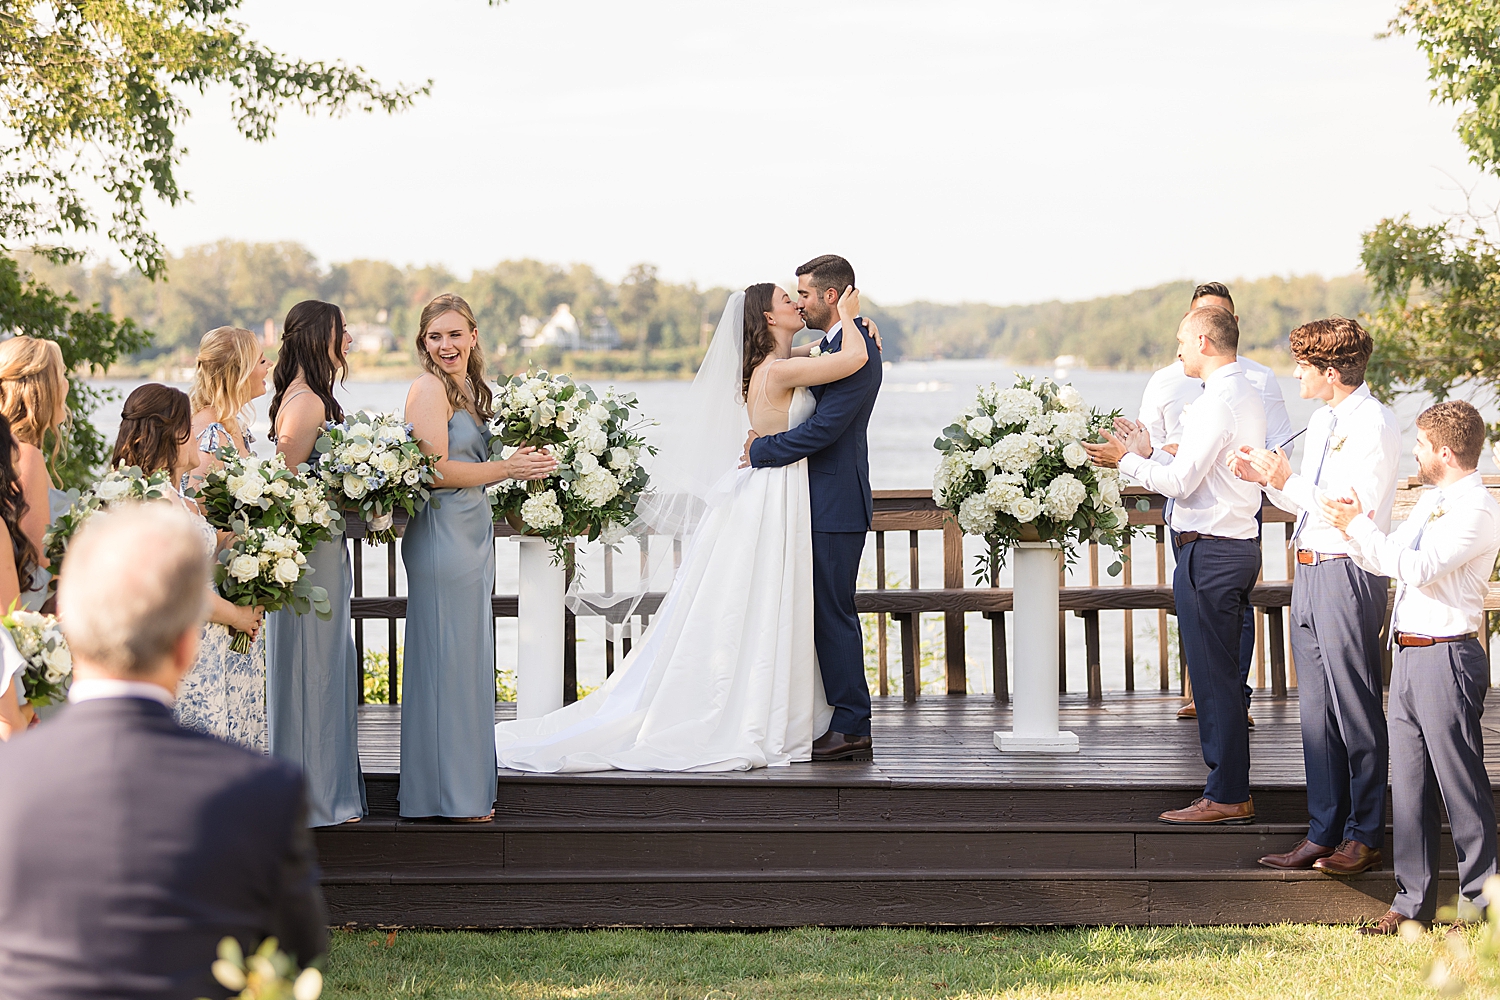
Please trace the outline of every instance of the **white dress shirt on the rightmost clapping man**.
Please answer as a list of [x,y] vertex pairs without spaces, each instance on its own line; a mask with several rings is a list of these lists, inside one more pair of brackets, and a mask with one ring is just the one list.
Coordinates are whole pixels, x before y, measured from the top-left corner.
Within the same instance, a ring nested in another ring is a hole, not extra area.
[[1462,636],[1484,628],[1490,571],[1500,552],[1500,504],[1479,472],[1428,489],[1389,535],[1370,513],[1348,523],[1354,562],[1396,582],[1395,631]]

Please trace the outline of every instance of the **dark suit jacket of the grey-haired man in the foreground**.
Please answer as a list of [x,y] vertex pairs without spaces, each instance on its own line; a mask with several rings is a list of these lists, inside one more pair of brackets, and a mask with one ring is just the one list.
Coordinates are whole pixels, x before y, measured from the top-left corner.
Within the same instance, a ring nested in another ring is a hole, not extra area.
[[224,997],[225,936],[327,946],[296,768],[146,699],[69,705],[0,744],[0,997]]

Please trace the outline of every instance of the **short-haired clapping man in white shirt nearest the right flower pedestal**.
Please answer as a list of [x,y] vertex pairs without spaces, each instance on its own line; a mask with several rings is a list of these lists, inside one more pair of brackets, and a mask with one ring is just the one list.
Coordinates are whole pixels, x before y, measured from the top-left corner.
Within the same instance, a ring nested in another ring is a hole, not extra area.
[[1178,327],[1178,357],[1203,394],[1184,414],[1176,456],[1150,447],[1143,424],[1125,438],[1086,445],[1101,465],[1146,489],[1173,498],[1168,517],[1179,547],[1172,580],[1178,628],[1198,705],[1198,741],[1209,780],[1203,796],[1161,814],[1164,823],[1248,823],[1250,727],[1239,676],[1239,634],[1250,591],[1260,573],[1260,487],[1234,477],[1232,459],[1242,445],[1266,441],[1260,393],[1245,378],[1236,351],[1239,324],[1226,309],[1192,309]]

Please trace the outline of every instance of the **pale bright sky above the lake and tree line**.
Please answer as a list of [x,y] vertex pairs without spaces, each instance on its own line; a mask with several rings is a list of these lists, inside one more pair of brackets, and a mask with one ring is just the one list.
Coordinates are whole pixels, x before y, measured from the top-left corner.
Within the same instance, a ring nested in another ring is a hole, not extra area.
[[867,295],[1089,298],[1358,268],[1378,219],[1462,207],[1476,171],[1394,0],[248,0],[279,51],[402,114],[226,94],[180,130],[180,250],[294,240],[324,262],[651,262],[700,286],[843,253]]

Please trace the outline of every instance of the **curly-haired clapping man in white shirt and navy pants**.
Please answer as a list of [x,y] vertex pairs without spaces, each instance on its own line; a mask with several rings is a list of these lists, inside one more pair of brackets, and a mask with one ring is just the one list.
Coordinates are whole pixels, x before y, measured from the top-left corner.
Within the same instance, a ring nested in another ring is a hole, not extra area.
[[1380,867],[1386,832],[1386,715],[1380,630],[1389,585],[1348,558],[1350,543],[1323,519],[1318,498],[1359,498],[1380,531],[1390,529],[1401,429],[1370,394],[1374,343],[1353,319],[1316,319],[1292,331],[1302,399],[1328,405],[1308,421],[1302,471],[1284,451],[1242,448],[1240,478],[1260,483],[1298,516],[1292,583],[1292,652],[1298,661],[1308,835],[1268,868],[1353,876]]

